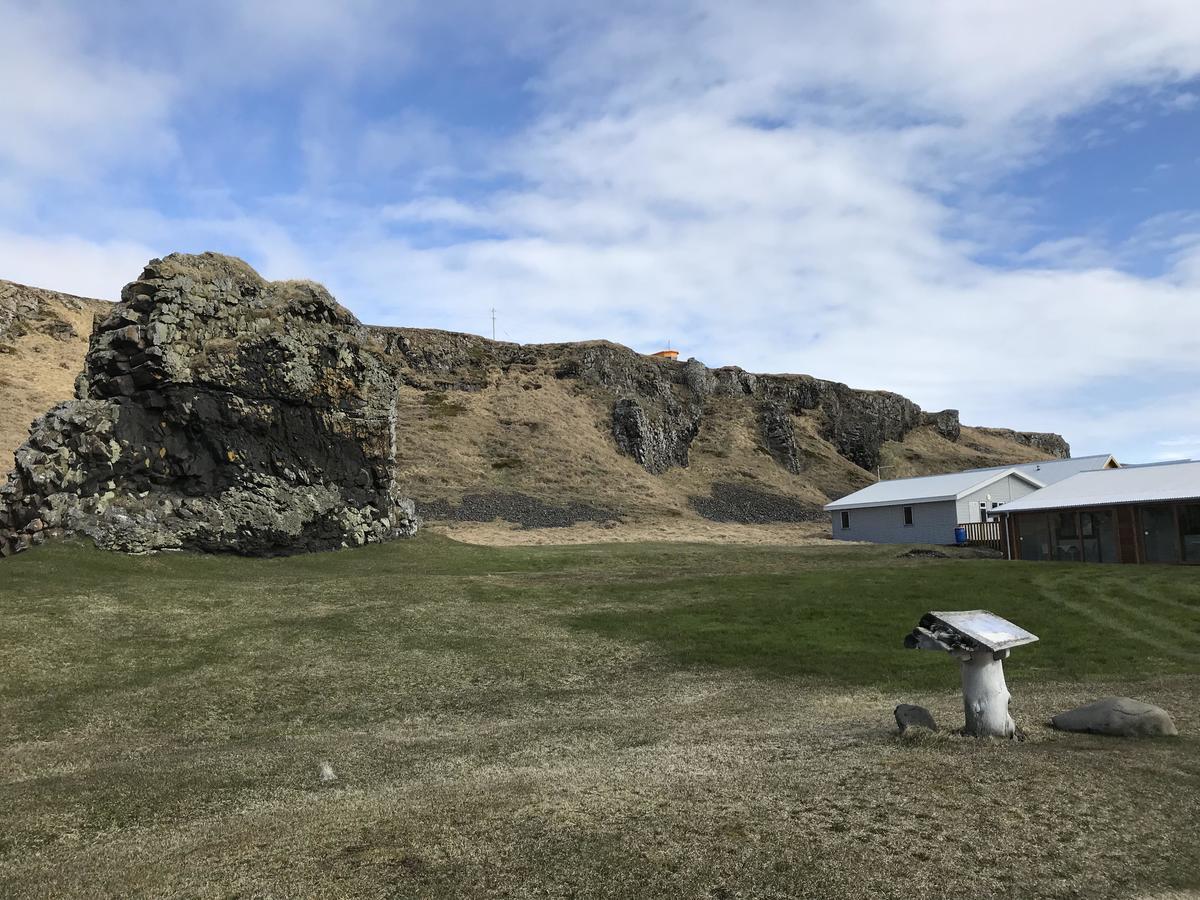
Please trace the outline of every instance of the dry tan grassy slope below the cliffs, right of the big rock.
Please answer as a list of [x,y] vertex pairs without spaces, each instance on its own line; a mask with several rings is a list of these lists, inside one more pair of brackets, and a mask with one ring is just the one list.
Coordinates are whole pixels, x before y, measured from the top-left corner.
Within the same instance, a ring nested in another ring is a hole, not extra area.
[[[594,506],[619,518],[624,530],[674,523],[684,535],[708,528],[694,498],[707,498],[721,485],[758,494],[758,505],[769,511],[779,508],[778,498],[818,509],[876,480],[821,437],[820,413],[792,416],[803,468],[788,472],[763,448],[755,404],[728,397],[708,402],[686,467],[650,474],[613,442],[612,394],[557,379],[551,368],[493,368],[470,391],[402,389],[396,457],[404,490],[426,511],[431,502],[456,506],[468,494],[520,494],[551,505]],[[893,467],[902,458],[902,472],[893,468],[889,478],[1049,458],[983,430],[964,427],[950,442],[929,426],[887,443],[883,455]],[[439,520],[443,514],[428,515]],[[593,540],[604,536],[595,528],[584,532]]]

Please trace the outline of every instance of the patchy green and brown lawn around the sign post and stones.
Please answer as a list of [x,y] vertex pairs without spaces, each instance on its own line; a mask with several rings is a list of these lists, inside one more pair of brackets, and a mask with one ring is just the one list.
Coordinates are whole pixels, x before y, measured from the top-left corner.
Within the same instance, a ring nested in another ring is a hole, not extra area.
[[[413,541],[0,563],[0,896],[1200,889],[1200,572],[895,547]],[[1042,637],[1024,743],[931,608]],[[1106,694],[1181,737],[1061,734]],[[328,763],[336,780],[320,778]]]

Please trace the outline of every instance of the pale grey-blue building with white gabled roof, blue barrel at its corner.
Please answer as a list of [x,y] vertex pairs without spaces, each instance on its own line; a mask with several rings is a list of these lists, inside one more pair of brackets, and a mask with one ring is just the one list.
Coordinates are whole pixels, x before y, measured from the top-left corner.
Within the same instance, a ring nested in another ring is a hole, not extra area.
[[[1018,500],[1080,472],[1115,468],[1108,454],[946,475],[878,481],[826,504],[836,540],[876,544],[953,544],[960,524],[985,522],[1001,504]],[[998,534],[996,535],[998,540]]]

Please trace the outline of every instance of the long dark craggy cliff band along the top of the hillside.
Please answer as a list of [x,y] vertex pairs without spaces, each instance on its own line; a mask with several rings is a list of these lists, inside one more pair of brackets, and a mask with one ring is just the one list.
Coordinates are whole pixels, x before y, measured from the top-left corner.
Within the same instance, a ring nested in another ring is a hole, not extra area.
[[[854,390],[811,376],[708,368],[695,359],[678,362],[646,356],[607,342],[512,344],[445,331],[376,331],[401,379],[416,388],[478,391],[493,376],[541,370],[556,380],[577,382],[611,395],[617,449],[653,474],[688,466],[709,406],[722,400],[738,401],[755,412],[762,449],[792,474],[805,468],[794,416],[811,416],[818,422],[821,438],[866,470],[880,464],[884,444],[902,440],[914,428],[930,427],[950,443],[962,432],[956,409],[926,413],[898,394]],[[986,431],[1046,456],[1070,454],[1057,434]]]

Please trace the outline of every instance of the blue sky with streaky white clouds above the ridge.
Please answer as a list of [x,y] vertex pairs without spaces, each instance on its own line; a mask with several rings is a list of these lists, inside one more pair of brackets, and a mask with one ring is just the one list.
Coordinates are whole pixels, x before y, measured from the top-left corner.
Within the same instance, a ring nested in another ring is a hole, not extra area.
[[1194,0],[0,0],[0,277],[212,250],[1200,458]]

